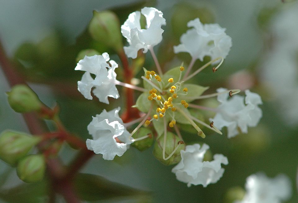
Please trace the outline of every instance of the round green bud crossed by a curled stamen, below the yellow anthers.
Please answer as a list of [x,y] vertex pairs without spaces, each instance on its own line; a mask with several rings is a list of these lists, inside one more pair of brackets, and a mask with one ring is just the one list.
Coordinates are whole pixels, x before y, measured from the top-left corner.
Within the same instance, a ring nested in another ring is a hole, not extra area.
[[[167,141],[166,141],[166,147],[165,147],[165,158],[167,158],[177,147],[178,142],[182,140],[176,136],[175,134],[171,132],[167,132]],[[181,143],[180,142],[180,143]],[[173,156],[169,158],[168,160],[164,160],[162,156],[162,147],[164,144],[164,135],[160,136],[158,140],[156,140],[153,148],[153,155],[156,159],[158,159],[160,162],[162,162],[165,165],[172,165],[180,162],[181,155],[180,151],[182,149],[185,149],[185,144],[179,144],[178,149],[175,151]]]

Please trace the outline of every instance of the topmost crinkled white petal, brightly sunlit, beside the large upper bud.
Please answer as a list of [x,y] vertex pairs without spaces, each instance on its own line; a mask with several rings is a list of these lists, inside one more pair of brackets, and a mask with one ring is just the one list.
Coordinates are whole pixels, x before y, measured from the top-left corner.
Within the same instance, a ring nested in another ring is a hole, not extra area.
[[[146,29],[141,29],[141,14],[146,17]],[[147,53],[149,46],[155,46],[162,40],[161,25],[165,25],[163,13],[156,8],[144,7],[141,12],[129,14],[128,19],[121,26],[121,33],[127,39],[129,46],[124,46],[125,54],[130,58],[137,58],[138,50]]]

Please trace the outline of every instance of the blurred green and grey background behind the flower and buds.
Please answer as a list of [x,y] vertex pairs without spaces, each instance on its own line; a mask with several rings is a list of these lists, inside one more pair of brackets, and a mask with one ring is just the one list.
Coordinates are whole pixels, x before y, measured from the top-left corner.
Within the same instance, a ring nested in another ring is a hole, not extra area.
[[[93,48],[107,51],[120,62],[115,52],[94,42],[86,28],[92,11],[112,10],[120,24],[129,13],[144,6],[153,6],[164,13],[167,25],[163,27],[163,41],[155,47],[164,69],[182,61],[189,63],[187,54],[174,55],[173,45],[187,29],[186,23],[200,17],[203,23],[218,23],[232,37],[232,49],[216,74],[204,70],[196,82],[210,86],[251,89],[264,101],[263,118],[249,133],[228,139],[212,132],[204,140],[190,132],[183,132],[187,143],[204,141],[212,153],[228,157],[224,176],[207,188],[179,182],[171,173],[173,166],[164,166],[152,155],[152,148],[139,152],[131,147],[122,157],[113,161],[94,156],[82,172],[100,175],[108,180],[150,191],[150,197],[121,197],[102,200],[95,197],[85,202],[224,202],[229,188],[244,188],[246,177],[263,171],[269,177],[284,173],[291,179],[292,198],[298,202],[296,188],[298,155],[298,2],[278,0],[27,0],[0,1],[0,40],[8,56],[17,64],[18,71],[48,106],[61,107],[61,119],[70,132],[89,138],[87,125],[91,116],[103,109],[121,105],[124,95],[111,104],[84,99],[76,83],[82,73],[74,71],[80,50]],[[207,58],[206,58],[207,61]],[[205,62],[206,62],[205,61]],[[202,63],[196,62],[195,67]],[[147,54],[144,67],[153,67]],[[150,69],[150,68],[148,68]],[[121,76],[120,76],[121,78]],[[121,88],[120,88],[121,89]],[[13,129],[28,132],[22,116],[7,103],[10,87],[0,70],[0,131]],[[243,95],[243,92],[241,93]],[[214,101],[205,101],[208,105]],[[212,116],[212,115],[210,115]],[[48,123],[51,127],[51,123]],[[65,144],[60,156],[68,163],[76,150]],[[18,187],[14,194],[19,202],[43,202],[43,184],[25,184],[16,176],[15,169],[0,161],[0,202],[17,202],[1,190]],[[87,187],[85,184],[79,184]],[[100,191],[97,185],[89,190]],[[38,188],[38,189],[37,189]],[[41,189],[42,188],[42,189]],[[24,192],[25,191],[25,192]],[[86,196],[88,192],[86,191]],[[62,198],[59,202],[64,202]]]

